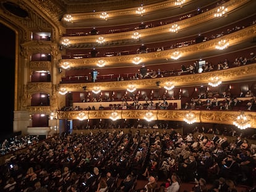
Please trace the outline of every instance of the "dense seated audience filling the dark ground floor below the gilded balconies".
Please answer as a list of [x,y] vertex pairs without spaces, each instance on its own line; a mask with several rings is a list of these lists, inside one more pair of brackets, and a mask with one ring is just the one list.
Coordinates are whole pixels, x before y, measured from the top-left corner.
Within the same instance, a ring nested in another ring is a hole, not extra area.
[[[11,185],[16,191],[135,191],[138,178],[149,178],[139,191],[151,187],[168,190],[175,182],[205,185],[217,180],[234,183],[235,188],[255,185],[255,161],[255,144],[240,136],[228,140],[224,135],[198,132],[181,135],[173,128],[161,133],[155,129],[99,130],[82,135],[62,133],[29,144],[25,152],[1,165],[0,178],[3,188]],[[112,182],[108,183],[109,178]],[[118,179],[120,185],[114,182]],[[169,180],[169,186],[152,184],[160,180]]]

